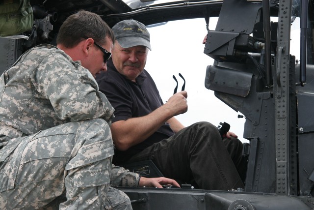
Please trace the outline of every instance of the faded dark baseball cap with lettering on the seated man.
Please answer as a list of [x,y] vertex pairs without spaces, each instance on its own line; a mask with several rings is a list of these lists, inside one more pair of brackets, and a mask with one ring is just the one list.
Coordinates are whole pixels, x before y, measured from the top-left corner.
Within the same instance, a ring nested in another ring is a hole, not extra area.
[[145,25],[133,19],[124,20],[112,27],[116,40],[121,47],[145,46],[152,50],[150,34]]

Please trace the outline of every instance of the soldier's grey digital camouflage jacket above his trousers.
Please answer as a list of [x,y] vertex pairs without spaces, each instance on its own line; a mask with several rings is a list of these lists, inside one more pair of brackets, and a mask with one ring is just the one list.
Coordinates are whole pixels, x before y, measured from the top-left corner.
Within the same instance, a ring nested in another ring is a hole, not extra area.
[[1,80],[0,134],[10,138],[70,121],[113,117],[91,73],[52,45],[26,52]]

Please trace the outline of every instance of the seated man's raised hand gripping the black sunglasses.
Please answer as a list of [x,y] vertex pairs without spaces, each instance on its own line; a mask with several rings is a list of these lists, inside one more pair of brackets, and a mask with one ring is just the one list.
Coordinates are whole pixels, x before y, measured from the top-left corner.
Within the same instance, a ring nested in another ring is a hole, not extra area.
[[187,111],[186,98],[187,98],[186,91],[177,92],[168,99],[164,106],[170,110],[173,116],[183,114]]

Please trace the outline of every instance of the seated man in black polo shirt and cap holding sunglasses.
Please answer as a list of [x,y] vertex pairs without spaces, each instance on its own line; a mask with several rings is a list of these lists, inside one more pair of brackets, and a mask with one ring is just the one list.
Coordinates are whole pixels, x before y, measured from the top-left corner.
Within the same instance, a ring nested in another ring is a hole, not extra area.
[[111,132],[117,165],[151,159],[166,176],[202,189],[244,187],[242,143],[222,140],[209,122],[186,128],[174,118],[187,111],[187,92],[174,94],[163,104],[157,87],[144,69],[150,35],[134,20],[112,28],[116,42],[107,71],[96,77],[99,89],[115,109]]

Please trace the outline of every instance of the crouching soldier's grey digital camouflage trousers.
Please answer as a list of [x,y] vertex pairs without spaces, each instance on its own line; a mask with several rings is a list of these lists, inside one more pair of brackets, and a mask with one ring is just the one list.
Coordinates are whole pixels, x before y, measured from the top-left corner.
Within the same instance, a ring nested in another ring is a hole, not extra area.
[[130,199],[109,187],[113,145],[105,120],[69,122],[19,138],[0,163],[1,210],[40,209],[64,193],[60,210],[131,209]]

